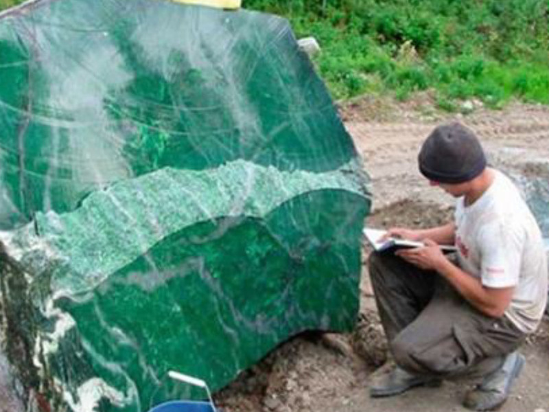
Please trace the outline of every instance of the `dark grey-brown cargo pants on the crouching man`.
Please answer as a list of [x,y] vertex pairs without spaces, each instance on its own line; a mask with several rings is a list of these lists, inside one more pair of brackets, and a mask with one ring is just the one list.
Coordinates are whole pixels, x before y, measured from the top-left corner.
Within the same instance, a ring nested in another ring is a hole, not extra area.
[[484,376],[526,337],[506,317],[473,308],[439,274],[393,253],[372,253],[369,271],[395,362],[412,374]]

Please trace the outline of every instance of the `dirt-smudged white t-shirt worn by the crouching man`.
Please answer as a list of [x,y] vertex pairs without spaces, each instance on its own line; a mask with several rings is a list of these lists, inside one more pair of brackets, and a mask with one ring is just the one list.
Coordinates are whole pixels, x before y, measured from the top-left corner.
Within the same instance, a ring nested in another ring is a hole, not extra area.
[[456,205],[458,263],[488,288],[515,286],[505,316],[522,332],[534,332],[544,314],[548,269],[537,222],[517,187],[494,170],[495,179],[472,205]]

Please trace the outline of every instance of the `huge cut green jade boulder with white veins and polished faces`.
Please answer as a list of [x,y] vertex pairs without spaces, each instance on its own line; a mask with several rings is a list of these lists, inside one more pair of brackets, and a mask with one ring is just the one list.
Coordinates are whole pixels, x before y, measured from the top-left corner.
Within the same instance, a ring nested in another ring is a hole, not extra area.
[[[3,352],[30,411],[214,391],[358,311],[367,178],[288,22],[161,0],[0,15]],[[3,356],[3,355],[2,355]]]

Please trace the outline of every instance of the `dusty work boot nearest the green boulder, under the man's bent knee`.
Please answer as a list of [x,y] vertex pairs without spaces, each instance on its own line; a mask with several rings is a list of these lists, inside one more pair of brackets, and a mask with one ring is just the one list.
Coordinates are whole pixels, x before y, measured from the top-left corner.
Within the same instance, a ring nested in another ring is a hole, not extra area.
[[374,375],[373,383],[370,385],[370,396],[372,398],[398,395],[408,391],[408,389],[422,385],[441,385],[440,379],[412,375],[397,365],[392,369],[382,367]]

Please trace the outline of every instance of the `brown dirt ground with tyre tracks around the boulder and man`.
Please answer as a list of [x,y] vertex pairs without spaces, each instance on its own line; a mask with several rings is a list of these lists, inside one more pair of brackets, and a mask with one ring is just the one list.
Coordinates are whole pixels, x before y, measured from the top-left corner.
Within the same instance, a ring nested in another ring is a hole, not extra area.
[[[441,122],[473,128],[489,163],[511,176],[549,179],[549,108],[512,104],[503,111],[482,108],[468,115],[434,109],[430,95],[412,102],[360,98],[340,113],[364,158],[374,196],[372,227],[439,225],[452,218],[453,199],[430,187],[417,172],[421,141]],[[369,251],[364,247],[363,260]],[[502,412],[549,411],[549,320],[522,352],[526,367]],[[363,265],[360,321],[351,334],[307,334],[281,345],[215,396],[226,412],[439,412],[467,411],[460,402],[474,382],[445,382],[402,396],[374,400],[369,376],[386,360],[386,341]]]

